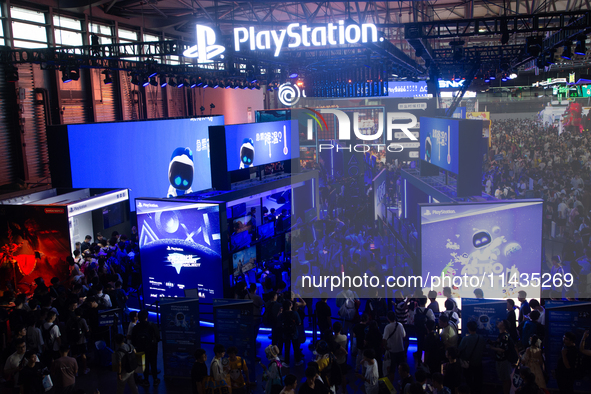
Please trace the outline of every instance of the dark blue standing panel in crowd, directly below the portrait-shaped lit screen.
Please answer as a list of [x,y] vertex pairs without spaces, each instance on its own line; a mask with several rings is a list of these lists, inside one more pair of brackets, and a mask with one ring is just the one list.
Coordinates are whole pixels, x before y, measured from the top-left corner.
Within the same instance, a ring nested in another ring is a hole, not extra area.
[[188,378],[201,347],[199,299],[160,298],[164,376]]

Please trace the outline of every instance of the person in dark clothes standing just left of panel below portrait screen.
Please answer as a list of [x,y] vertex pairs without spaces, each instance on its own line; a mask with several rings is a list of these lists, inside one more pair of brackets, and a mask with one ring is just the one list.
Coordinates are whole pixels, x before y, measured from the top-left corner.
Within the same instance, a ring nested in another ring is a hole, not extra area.
[[146,367],[144,370],[144,380],[140,383],[141,386],[150,386],[150,373],[154,379],[154,386],[160,384],[158,379],[158,342],[160,341],[160,333],[155,324],[148,322],[148,311],[142,310],[138,313],[138,324],[131,332],[131,343],[138,352],[146,354]]

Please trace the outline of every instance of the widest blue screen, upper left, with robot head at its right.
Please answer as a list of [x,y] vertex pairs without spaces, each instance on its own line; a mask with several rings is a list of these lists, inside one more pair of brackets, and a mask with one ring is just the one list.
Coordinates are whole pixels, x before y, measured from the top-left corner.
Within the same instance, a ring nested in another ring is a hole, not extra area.
[[[68,125],[72,187],[129,188],[138,197],[211,188],[209,126],[223,116]],[[100,153],[87,149],[100,147]]]

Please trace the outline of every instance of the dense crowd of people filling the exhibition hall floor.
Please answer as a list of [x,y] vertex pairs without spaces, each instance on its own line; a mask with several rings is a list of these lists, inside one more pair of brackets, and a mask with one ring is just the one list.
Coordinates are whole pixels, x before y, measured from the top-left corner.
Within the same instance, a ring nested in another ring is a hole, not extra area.
[[[497,198],[518,198],[527,196],[533,184],[532,196],[545,201],[545,231],[566,241],[562,258],[553,259],[553,269],[567,268],[583,280],[591,269],[591,189],[585,185],[590,180],[591,141],[583,135],[558,136],[556,129],[536,121],[494,121],[492,126],[484,190]],[[375,171],[388,171],[387,197],[394,199],[402,164],[384,161],[385,156],[377,161]],[[307,231],[292,236],[291,243],[305,246],[303,257],[310,266],[385,275],[386,248],[380,248],[369,214],[374,191],[358,179],[330,178],[322,163],[316,168],[324,214],[313,224],[300,223]],[[555,234],[550,232],[551,222],[557,223]],[[100,235],[92,240],[87,236],[76,244],[68,259],[67,283],[53,278],[45,284],[39,279],[31,297],[12,292],[2,296],[0,323],[7,328],[1,336],[2,384],[8,390],[43,393],[52,385],[58,393],[76,392],[76,377],[101,363],[95,344],[108,340],[109,328],[99,325],[98,314],[109,308],[120,310],[109,360],[117,375],[117,392],[129,386],[137,393],[138,385],[160,383],[158,327],[149,322],[147,311],[130,312],[127,307],[130,293],[141,286],[137,230],[130,237],[113,233],[108,240]],[[284,273],[289,277],[292,262],[300,258],[289,253],[276,256],[257,267],[259,286],[238,277],[234,288],[236,298],[253,301],[255,335],[261,326],[271,329],[271,344],[264,349],[267,360],[260,363],[264,373],[257,377],[264,382],[265,394],[345,393],[349,388],[366,394],[393,389],[403,394],[478,393],[484,387],[484,366],[493,364],[503,393],[514,389],[539,394],[550,376],[561,393],[570,393],[581,375],[581,357],[591,355],[585,345],[588,332],[579,343],[569,332],[556,369],[546,370],[544,299],[528,299],[523,292],[520,305],[507,300],[507,315],[498,322],[499,335],[493,341],[478,334],[475,322],[468,322],[467,332],[461,332],[461,310],[449,288],[443,294],[444,310],[440,295],[421,289],[399,289],[391,298],[376,293],[366,299],[343,290],[336,297],[335,316],[328,295],[314,299],[284,280]],[[574,299],[577,294],[555,291],[552,296]],[[310,340],[306,328],[320,334]],[[409,361],[411,337],[416,338],[416,351]],[[308,341],[312,357],[306,359]],[[243,355],[232,345],[216,344],[211,361],[204,349],[195,352],[194,393],[254,390]],[[137,354],[143,354],[144,365],[137,365]],[[483,361],[487,356],[490,364]],[[298,368],[299,378],[294,373]],[[512,387],[516,381],[521,383]]]

